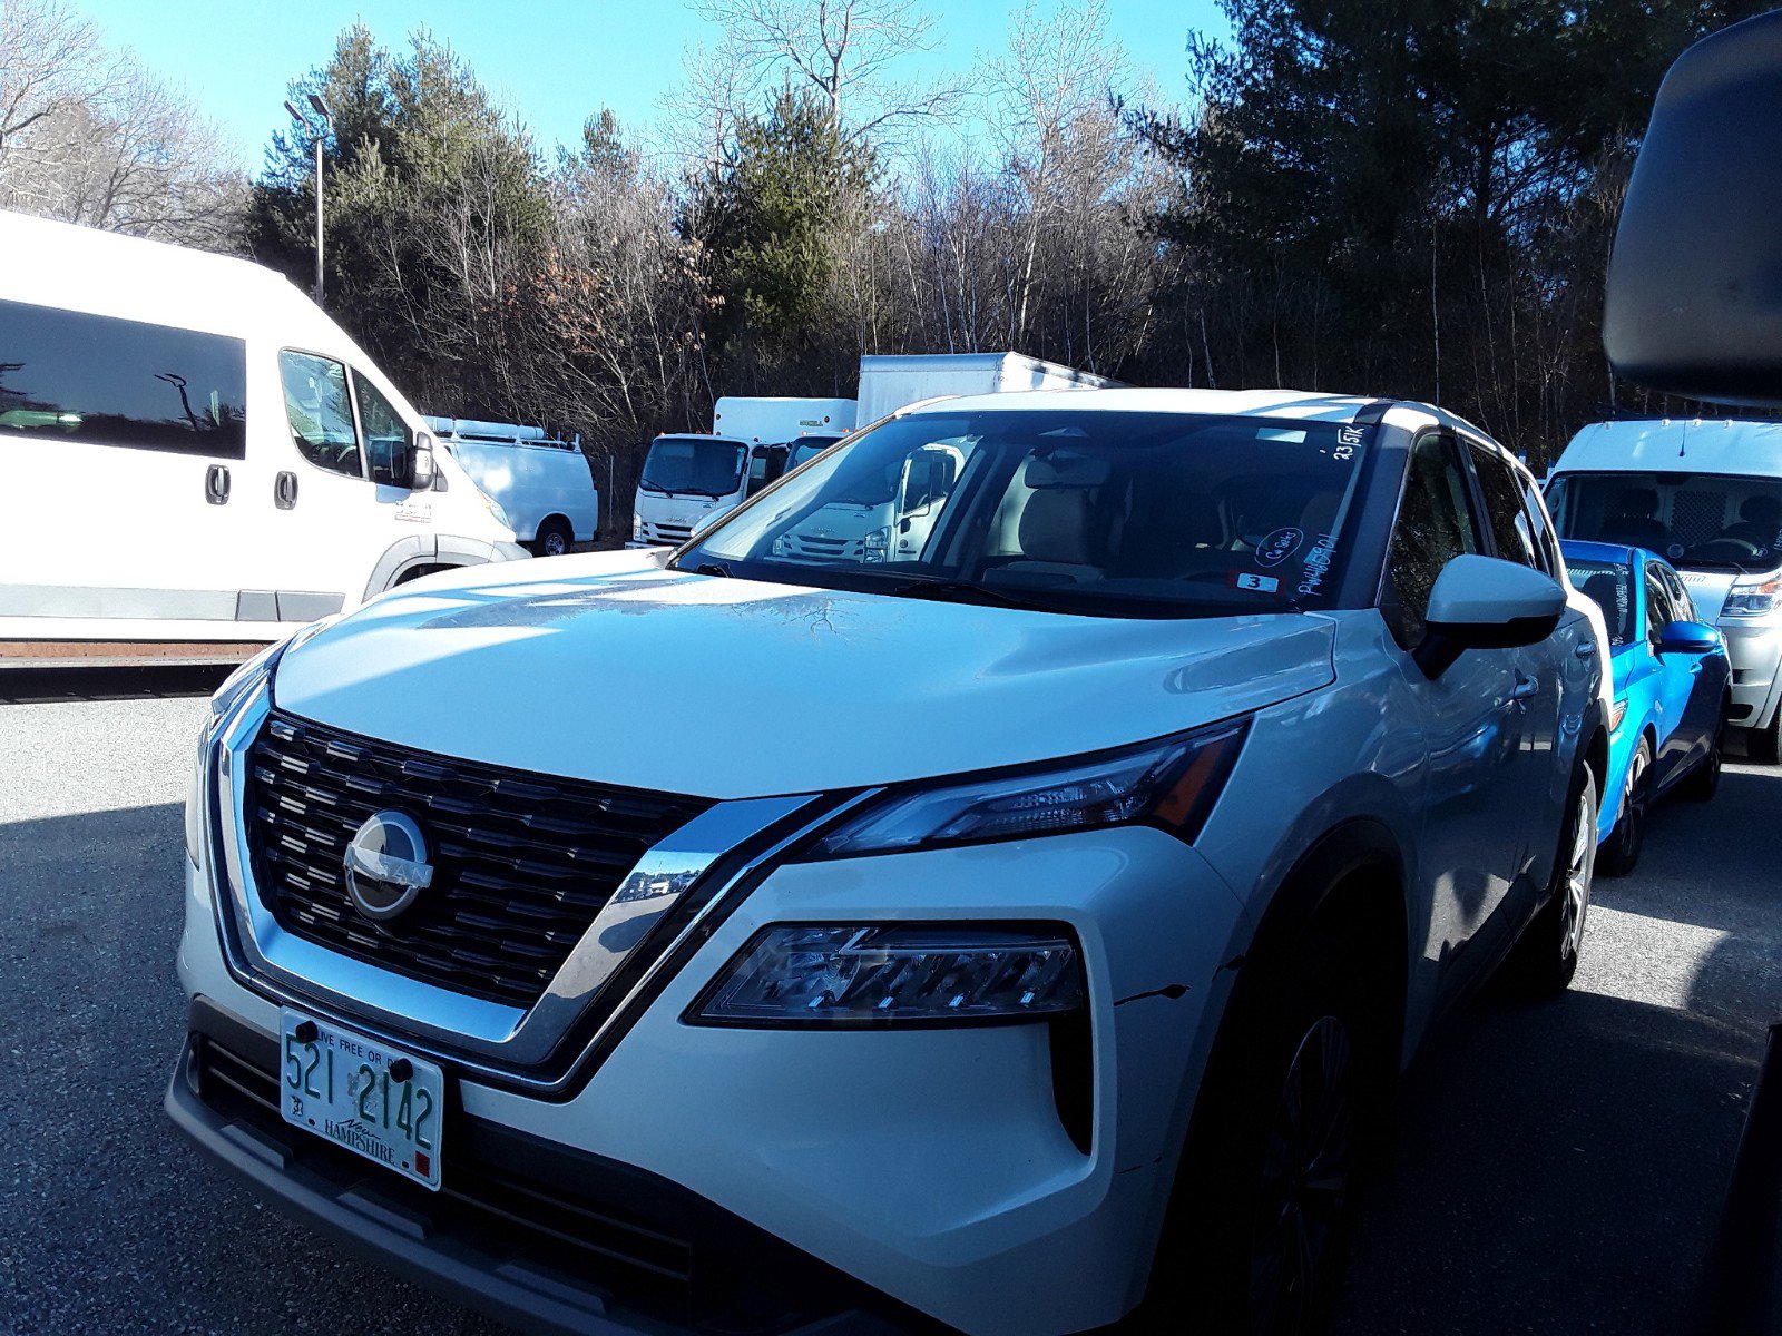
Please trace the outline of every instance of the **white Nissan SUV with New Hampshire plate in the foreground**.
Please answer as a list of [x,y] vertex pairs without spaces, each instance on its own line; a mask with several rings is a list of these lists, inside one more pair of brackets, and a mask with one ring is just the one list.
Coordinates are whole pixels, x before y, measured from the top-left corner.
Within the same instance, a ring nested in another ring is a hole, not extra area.
[[1438,1014],[1572,978],[1604,661],[1438,410],[925,404],[225,684],[168,1110],[529,1331],[1301,1331]]

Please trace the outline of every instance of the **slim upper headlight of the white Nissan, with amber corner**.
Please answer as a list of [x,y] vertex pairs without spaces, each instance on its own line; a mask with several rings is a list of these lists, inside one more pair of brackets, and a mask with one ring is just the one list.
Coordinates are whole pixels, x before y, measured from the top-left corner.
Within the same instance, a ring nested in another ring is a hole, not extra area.
[[1219,802],[1247,732],[1247,718],[1228,720],[1044,770],[893,791],[820,839],[807,857],[889,853],[1130,823],[1155,825],[1192,841]]

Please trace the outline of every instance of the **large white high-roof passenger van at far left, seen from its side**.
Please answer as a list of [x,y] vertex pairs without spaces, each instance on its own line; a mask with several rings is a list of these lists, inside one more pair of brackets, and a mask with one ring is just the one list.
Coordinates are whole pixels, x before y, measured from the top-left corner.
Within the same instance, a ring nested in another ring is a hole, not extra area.
[[271,641],[526,556],[271,269],[7,212],[0,257],[0,664]]

